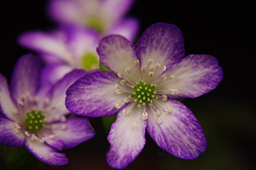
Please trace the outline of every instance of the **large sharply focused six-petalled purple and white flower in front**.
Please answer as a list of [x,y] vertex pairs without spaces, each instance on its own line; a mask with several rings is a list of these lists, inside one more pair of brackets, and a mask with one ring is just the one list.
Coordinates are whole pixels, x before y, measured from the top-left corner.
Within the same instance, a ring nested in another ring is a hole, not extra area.
[[67,90],[68,110],[87,117],[117,113],[108,135],[109,166],[129,165],[145,145],[145,130],[166,152],[196,159],[205,152],[202,127],[180,97],[215,89],[223,72],[210,55],[184,58],[182,33],[175,25],[154,24],[136,46],[122,36],[100,41],[100,62],[112,72],[86,74]]

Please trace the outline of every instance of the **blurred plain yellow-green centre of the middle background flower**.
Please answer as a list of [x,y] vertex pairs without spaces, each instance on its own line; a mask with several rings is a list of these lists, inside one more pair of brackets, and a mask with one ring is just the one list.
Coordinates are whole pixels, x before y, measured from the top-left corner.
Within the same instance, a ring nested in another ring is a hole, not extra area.
[[81,59],[81,66],[86,71],[99,68],[99,57],[93,52],[86,52]]

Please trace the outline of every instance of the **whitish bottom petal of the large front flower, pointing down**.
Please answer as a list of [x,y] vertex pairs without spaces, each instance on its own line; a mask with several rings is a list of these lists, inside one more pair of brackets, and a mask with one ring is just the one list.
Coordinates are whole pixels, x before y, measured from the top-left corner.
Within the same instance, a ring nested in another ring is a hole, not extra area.
[[[107,153],[107,162],[109,166],[122,169],[136,159],[143,149],[146,143],[147,121],[142,120],[141,117],[138,119],[139,112],[140,109],[135,106],[130,115],[124,115],[122,110],[118,113],[116,122],[112,124],[108,135],[110,149]],[[138,121],[138,127],[134,127],[136,121]]]

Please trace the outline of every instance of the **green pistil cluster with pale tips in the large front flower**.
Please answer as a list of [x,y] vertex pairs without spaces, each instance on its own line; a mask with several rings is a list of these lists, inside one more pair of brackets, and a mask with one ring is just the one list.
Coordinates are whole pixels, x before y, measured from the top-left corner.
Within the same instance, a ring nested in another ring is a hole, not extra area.
[[147,84],[141,80],[139,83],[136,83],[136,86],[132,86],[132,88],[134,92],[131,97],[135,98],[134,101],[139,102],[138,106],[141,106],[141,104],[145,105],[146,102],[152,103],[152,99],[156,98],[156,91],[154,91],[156,85]]

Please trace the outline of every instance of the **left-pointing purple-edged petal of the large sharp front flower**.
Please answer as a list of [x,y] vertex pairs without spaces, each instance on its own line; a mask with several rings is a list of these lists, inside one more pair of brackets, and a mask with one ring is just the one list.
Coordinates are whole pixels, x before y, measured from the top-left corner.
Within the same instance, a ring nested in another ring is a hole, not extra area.
[[123,96],[116,95],[115,84],[120,81],[109,71],[86,74],[67,90],[67,109],[77,115],[102,117],[115,115],[116,103],[123,103]]

